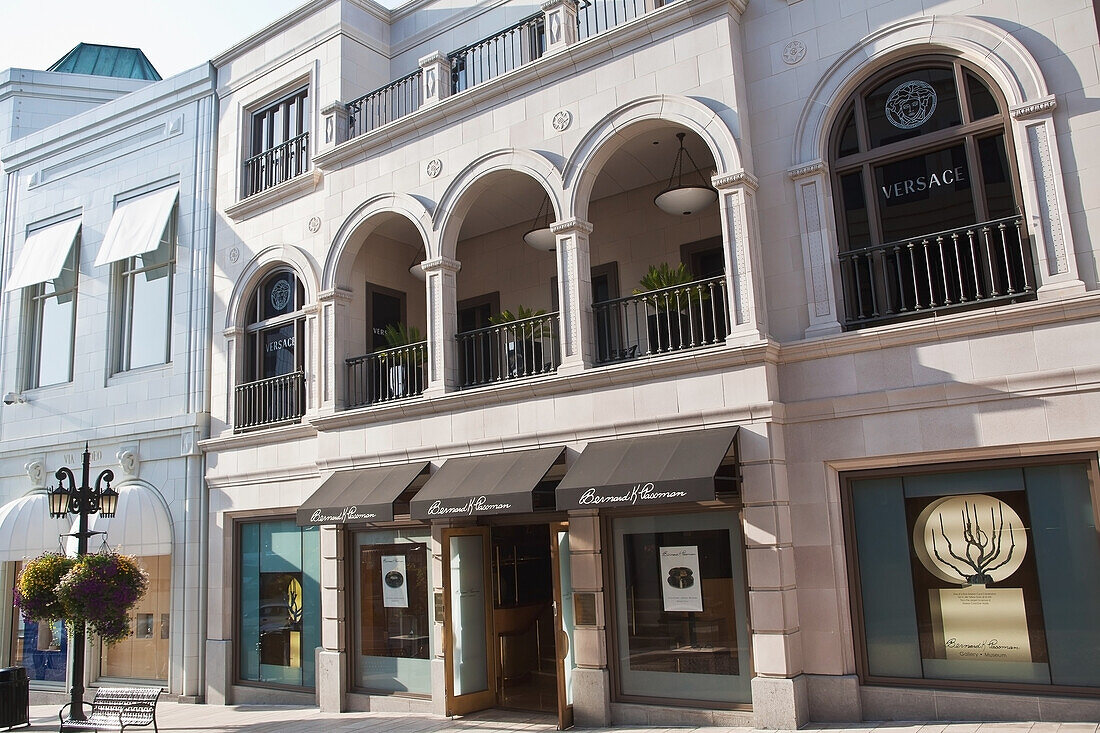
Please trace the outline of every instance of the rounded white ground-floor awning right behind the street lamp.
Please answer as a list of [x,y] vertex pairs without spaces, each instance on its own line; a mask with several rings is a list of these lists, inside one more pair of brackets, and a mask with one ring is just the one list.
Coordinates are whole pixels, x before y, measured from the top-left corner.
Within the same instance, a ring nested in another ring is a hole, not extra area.
[[[98,514],[88,517],[88,528],[106,532],[88,540],[88,551],[96,553],[103,541],[123,555],[172,555],[172,519],[161,497],[151,489],[131,484],[119,489],[119,507],[114,516],[105,519]],[[73,523],[72,532],[77,530]],[[76,555],[76,537],[66,544],[68,555]]]

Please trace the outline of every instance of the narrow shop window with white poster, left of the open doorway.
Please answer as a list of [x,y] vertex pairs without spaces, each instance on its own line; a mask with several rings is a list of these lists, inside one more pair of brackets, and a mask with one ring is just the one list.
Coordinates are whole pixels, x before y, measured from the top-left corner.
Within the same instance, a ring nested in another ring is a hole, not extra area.
[[430,540],[427,527],[355,536],[359,687],[431,694]]

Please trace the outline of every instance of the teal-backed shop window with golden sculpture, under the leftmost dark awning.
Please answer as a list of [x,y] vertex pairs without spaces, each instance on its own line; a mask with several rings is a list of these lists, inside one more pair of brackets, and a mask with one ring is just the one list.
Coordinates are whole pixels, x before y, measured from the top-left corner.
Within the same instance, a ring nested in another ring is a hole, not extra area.
[[241,525],[242,680],[312,687],[321,642],[320,533],[294,519]]

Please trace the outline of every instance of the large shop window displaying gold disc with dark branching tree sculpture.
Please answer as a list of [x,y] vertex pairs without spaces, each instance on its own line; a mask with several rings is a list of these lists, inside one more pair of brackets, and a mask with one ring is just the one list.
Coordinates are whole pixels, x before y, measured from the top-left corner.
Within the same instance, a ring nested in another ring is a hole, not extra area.
[[866,672],[1100,686],[1088,464],[854,479]]

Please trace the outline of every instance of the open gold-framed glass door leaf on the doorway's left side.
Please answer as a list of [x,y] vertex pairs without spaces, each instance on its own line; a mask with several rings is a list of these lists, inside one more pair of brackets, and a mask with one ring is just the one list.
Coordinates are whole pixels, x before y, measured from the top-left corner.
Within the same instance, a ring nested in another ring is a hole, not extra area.
[[496,703],[488,527],[444,529],[443,567],[447,714],[463,715]]

